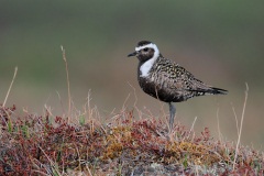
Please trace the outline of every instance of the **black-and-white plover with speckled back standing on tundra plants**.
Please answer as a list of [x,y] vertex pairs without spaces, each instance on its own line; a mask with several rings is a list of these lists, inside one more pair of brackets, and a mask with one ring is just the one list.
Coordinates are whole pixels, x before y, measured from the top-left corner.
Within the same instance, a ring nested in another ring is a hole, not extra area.
[[177,63],[164,57],[157,45],[150,41],[138,43],[135,51],[128,57],[139,59],[138,80],[141,89],[168,103],[169,129],[174,127],[176,108],[173,102],[206,95],[227,95],[228,90],[216,88],[197,79]]

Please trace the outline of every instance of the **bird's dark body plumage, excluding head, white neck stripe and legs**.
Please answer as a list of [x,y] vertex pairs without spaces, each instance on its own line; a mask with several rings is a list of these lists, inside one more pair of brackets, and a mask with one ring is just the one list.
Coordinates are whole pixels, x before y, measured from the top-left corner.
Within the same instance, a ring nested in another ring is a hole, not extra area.
[[140,69],[138,75],[141,88],[165,102],[180,102],[197,96],[224,94],[224,90],[204,84],[184,67],[163,56],[153,64],[147,77],[142,77]]

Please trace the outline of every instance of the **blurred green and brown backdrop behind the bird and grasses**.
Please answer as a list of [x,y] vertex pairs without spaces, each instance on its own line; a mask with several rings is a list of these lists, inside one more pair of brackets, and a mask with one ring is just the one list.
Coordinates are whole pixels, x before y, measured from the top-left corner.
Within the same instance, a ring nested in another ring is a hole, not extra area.
[[[66,50],[73,101],[92,105],[109,117],[125,106],[161,116],[161,107],[142,92],[136,58],[127,58],[141,40],[157,44],[165,57],[196,77],[229,90],[177,103],[177,119],[197,133],[208,127],[218,139],[217,111],[224,140],[237,140],[232,105],[240,118],[245,82],[250,92],[242,143],[264,144],[264,2],[263,1],[0,1],[0,100],[19,67],[8,105],[43,114],[67,108],[67,84],[61,45]],[[132,85],[132,87],[130,86]],[[164,105],[167,112],[167,105]]]

